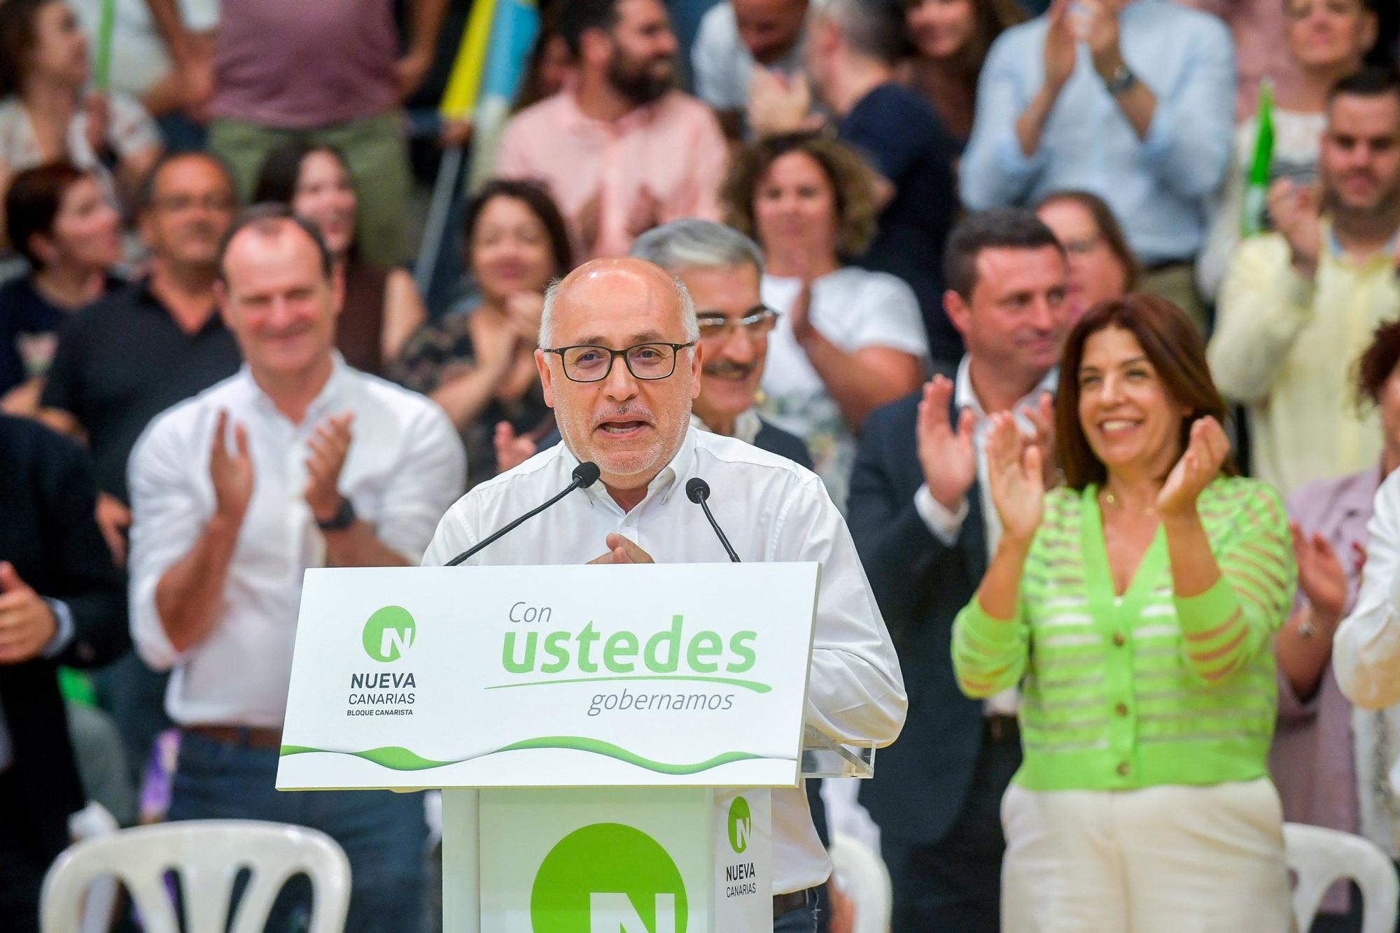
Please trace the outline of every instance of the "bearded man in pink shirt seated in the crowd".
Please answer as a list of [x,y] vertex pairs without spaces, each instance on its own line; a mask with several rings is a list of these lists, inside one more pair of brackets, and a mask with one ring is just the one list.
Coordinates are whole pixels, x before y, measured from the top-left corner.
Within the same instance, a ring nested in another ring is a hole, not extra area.
[[682,217],[718,220],[724,134],[673,88],[678,45],[661,0],[570,0],[560,32],[578,83],[510,122],[497,173],[549,186],[580,259],[626,255],[638,234]]

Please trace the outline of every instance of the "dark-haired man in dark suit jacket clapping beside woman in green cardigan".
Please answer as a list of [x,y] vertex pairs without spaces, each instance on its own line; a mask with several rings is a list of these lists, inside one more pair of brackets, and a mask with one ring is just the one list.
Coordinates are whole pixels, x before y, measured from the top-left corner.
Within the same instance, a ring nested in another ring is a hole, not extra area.
[[1016,698],[962,695],[952,622],[1000,537],[981,478],[990,417],[1015,411],[1051,442],[1049,393],[1070,327],[1064,250],[1029,211],[974,214],[949,236],[945,277],[944,308],[967,346],[956,382],[935,376],[872,413],[851,477],[851,534],[909,690],[904,732],[861,803],[881,828],[893,929],[995,933]]

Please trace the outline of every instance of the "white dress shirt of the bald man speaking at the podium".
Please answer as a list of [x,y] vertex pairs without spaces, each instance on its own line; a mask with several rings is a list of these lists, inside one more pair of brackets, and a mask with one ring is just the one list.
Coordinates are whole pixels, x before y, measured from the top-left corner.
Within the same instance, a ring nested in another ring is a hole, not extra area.
[[[445,564],[550,498],[568,485],[577,464],[559,443],[477,485],[448,511],[423,564]],[[608,550],[609,533],[631,539],[658,564],[728,561],[704,512],[686,498],[692,477],[710,484],[710,508],[741,560],[822,564],[806,722],[843,741],[893,741],[907,699],[885,620],[840,512],[816,474],[791,460],[690,428],[630,512],[598,483],[490,544],[469,564],[584,564]],[[820,884],[830,869],[806,795],[774,790],[774,894]]]

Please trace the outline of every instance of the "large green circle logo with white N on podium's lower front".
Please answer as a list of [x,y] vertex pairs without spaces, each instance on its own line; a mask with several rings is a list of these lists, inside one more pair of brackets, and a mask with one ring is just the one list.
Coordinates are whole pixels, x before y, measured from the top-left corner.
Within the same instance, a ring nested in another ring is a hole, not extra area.
[[535,933],[685,933],[680,870],[661,843],[620,822],[595,822],[560,839],[535,876]]

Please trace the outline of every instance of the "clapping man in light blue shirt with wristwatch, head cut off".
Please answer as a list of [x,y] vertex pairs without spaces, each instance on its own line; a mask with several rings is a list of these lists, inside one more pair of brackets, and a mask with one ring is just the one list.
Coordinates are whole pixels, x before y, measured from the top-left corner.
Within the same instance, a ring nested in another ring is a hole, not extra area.
[[1145,269],[1142,290],[1204,329],[1191,263],[1229,166],[1233,102],[1235,50],[1215,17],[1169,0],[1054,0],[987,55],[963,203],[1098,194]]

